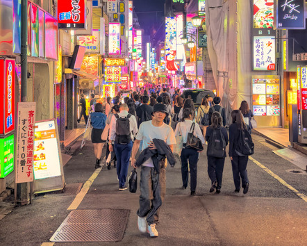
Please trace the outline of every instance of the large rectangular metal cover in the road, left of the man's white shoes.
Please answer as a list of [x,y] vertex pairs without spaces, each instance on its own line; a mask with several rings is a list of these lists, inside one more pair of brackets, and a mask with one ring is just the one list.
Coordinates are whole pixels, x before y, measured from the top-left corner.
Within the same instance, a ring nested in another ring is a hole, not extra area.
[[75,210],[51,237],[51,242],[118,242],[128,223],[126,209]]

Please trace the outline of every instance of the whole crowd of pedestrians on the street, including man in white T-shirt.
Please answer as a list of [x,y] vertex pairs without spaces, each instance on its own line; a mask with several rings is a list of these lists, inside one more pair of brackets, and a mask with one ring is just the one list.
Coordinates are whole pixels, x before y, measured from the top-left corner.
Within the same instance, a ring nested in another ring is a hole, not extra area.
[[[83,102],[81,102],[82,104]],[[226,130],[226,110],[219,97],[206,95],[195,108],[191,98],[180,95],[178,88],[149,88],[130,90],[126,97],[118,92],[106,98],[103,106],[95,101],[91,115],[92,142],[96,156],[95,168],[101,167],[100,159],[106,142],[106,166],[117,169],[119,190],[126,190],[128,165],[140,167],[140,208],[138,229],[158,236],[158,212],[166,192],[165,167],[174,166],[174,148],[180,156],[182,188],[190,195],[197,190],[197,163],[200,152],[207,147],[209,192],[219,194],[226,158],[226,145],[233,169],[235,192],[246,194],[248,156],[254,153],[251,140],[251,117],[247,101],[231,113],[232,124]],[[179,151],[178,151],[179,149]]]

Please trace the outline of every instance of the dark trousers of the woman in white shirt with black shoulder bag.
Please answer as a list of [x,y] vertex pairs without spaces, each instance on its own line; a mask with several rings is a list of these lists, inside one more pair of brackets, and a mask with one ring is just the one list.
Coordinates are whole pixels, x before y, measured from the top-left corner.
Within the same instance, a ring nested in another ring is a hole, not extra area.
[[197,162],[199,153],[197,150],[192,148],[182,149],[181,151],[181,176],[183,186],[188,186],[189,171],[188,161],[190,164],[190,175],[191,175],[191,190],[196,190],[197,186]]

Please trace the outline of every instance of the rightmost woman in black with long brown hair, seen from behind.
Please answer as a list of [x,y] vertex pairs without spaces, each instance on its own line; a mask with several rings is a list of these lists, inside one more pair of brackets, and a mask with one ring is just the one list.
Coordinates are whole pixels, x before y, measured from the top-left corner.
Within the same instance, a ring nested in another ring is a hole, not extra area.
[[238,142],[239,133],[244,129],[248,129],[247,124],[244,124],[243,115],[240,110],[231,112],[233,124],[229,126],[229,157],[233,167],[233,182],[235,183],[235,192],[240,192],[240,184],[242,180],[243,193],[249,191],[249,179],[247,177],[247,162],[249,156],[239,156],[235,151],[235,143]]

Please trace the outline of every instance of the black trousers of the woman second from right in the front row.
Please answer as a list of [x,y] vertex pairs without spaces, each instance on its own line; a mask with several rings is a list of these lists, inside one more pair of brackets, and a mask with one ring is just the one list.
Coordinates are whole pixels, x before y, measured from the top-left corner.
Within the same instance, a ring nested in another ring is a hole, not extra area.
[[217,181],[217,188],[222,188],[222,178],[225,158],[216,158],[213,156],[207,156],[208,158],[208,174],[211,179],[211,183]]

